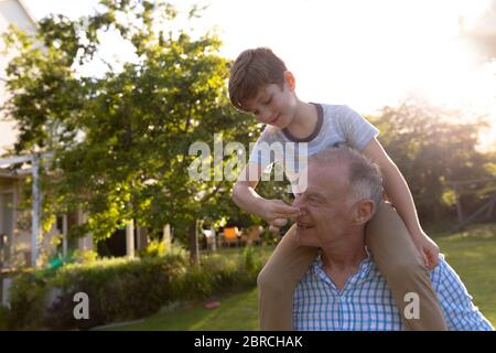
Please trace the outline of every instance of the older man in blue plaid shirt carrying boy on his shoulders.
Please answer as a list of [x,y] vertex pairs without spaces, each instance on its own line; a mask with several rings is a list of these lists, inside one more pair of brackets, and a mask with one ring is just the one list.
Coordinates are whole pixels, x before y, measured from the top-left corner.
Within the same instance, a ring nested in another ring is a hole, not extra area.
[[[339,147],[311,157],[308,188],[294,200],[296,238],[321,252],[294,291],[295,330],[403,330],[401,314],[420,320],[419,296],[407,293],[411,306],[400,313],[365,246],[381,194],[378,168],[357,151]],[[493,330],[442,256],[430,276],[449,330]]]

